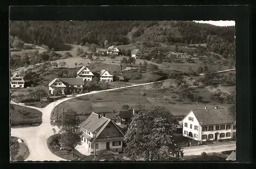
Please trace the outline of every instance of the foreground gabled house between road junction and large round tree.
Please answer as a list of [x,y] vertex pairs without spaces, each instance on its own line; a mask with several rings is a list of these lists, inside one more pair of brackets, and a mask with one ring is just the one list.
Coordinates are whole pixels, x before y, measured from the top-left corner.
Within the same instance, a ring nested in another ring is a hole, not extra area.
[[[124,134],[110,119],[92,112],[80,125],[82,146],[88,154],[100,154],[105,150],[122,152]],[[95,147],[94,147],[95,146]]]

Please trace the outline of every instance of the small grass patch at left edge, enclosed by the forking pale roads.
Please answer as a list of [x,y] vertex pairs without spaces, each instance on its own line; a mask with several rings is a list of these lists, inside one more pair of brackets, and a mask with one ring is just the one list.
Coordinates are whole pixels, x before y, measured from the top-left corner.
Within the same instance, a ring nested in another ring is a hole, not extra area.
[[10,117],[11,126],[29,125],[32,121],[33,125],[41,124],[42,113],[36,109],[11,104]]

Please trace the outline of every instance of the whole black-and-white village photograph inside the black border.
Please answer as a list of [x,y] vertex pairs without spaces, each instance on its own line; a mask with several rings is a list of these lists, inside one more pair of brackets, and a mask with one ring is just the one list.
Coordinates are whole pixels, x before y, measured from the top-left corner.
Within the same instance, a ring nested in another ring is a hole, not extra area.
[[236,161],[233,20],[10,20],[10,161]]

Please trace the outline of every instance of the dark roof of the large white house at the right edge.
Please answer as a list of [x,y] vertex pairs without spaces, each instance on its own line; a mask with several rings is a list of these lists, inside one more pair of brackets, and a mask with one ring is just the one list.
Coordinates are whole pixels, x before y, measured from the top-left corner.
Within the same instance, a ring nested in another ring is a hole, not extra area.
[[193,112],[198,122],[202,123],[201,125],[234,123],[231,116],[223,108],[197,109]]

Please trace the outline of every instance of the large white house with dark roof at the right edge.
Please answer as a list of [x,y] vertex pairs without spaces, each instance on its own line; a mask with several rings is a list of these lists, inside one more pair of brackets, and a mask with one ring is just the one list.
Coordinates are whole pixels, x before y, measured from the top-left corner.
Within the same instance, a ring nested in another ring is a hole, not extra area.
[[191,110],[183,119],[183,136],[199,142],[231,139],[236,132],[234,120],[225,109]]

